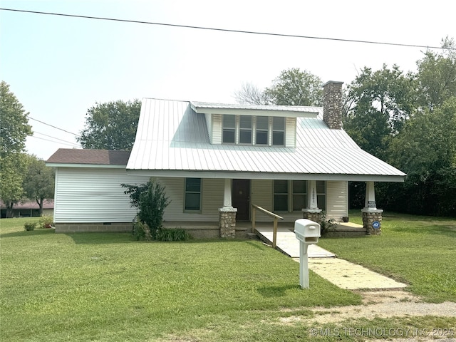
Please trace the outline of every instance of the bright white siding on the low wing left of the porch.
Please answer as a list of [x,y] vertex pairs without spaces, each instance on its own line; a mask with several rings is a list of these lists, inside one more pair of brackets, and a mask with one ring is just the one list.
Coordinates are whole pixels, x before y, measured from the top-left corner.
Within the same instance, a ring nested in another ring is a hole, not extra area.
[[139,185],[149,180],[128,176],[125,168],[59,167],[56,172],[54,222],[132,222],[136,208],[120,184]]

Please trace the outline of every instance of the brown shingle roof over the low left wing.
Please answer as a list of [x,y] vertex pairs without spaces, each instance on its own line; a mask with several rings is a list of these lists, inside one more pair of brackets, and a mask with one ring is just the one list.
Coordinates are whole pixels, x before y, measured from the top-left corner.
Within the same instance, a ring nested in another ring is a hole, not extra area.
[[105,167],[127,165],[129,151],[113,150],[77,150],[71,148],[59,148],[48,160],[46,165],[53,167],[105,165]]

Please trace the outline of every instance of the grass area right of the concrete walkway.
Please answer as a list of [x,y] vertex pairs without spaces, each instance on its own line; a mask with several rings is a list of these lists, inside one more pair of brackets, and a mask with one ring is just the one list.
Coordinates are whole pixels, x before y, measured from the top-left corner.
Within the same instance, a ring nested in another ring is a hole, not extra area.
[[[351,212],[361,224],[361,214]],[[425,301],[456,302],[456,219],[385,213],[382,234],[320,239],[338,257],[409,284]]]

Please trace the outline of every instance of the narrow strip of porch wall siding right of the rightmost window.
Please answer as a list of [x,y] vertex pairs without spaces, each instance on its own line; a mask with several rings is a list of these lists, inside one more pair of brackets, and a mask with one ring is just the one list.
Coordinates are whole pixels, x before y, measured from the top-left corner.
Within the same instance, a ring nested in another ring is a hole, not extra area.
[[326,182],[326,217],[340,220],[348,216],[348,182]]

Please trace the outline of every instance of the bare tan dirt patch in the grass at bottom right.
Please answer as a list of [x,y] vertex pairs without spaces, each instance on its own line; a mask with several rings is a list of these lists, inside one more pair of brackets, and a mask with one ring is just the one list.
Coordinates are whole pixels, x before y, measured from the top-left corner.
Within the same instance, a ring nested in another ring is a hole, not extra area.
[[298,321],[313,323],[337,323],[353,318],[388,318],[405,316],[447,316],[454,317],[456,303],[424,303],[420,297],[403,290],[358,291],[363,296],[363,304],[356,306],[338,306],[331,309],[308,308],[314,312],[312,318],[289,316],[280,318],[281,323],[289,324]]

